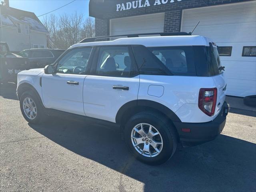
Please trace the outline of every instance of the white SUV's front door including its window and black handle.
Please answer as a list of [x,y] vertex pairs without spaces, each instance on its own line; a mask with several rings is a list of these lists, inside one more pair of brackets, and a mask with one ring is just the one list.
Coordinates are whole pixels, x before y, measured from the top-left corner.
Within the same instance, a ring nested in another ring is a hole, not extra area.
[[57,63],[56,73],[42,76],[42,96],[46,108],[84,114],[83,85],[92,48],[75,48]]

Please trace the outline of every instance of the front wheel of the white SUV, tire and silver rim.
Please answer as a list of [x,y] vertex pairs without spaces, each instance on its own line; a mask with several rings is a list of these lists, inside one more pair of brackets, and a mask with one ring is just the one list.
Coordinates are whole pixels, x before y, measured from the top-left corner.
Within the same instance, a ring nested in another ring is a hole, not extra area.
[[21,95],[20,110],[29,123],[40,124],[45,120],[44,107],[33,91],[26,91]]

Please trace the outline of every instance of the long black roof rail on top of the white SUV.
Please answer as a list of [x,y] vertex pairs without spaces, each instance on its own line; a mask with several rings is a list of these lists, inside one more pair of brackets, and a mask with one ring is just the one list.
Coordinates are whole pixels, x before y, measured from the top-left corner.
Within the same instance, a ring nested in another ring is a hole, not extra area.
[[[85,38],[79,43],[88,43],[88,42],[95,42],[97,39],[106,39],[112,38],[112,37],[139,37],[142,35],[160,35],[160,36],[184,36],[184,35],[190,35],[189,33],[186,32],[164,32],[164,33],[140,33],[140,34],[128,34],[128,35],[111,35],[111,36],[100,36],[100,37],[90,37],[90,38]],[[105,40],[104,40],[105,41]]]

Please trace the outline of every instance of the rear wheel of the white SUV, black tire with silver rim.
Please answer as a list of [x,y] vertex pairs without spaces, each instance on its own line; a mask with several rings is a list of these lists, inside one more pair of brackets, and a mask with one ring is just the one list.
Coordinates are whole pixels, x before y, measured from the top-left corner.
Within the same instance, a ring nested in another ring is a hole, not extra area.
[[172,123],[154,112],[132,116],[126,123],[124,137],[135,158],[150,165],[166,162],[177,147],[177,133]]

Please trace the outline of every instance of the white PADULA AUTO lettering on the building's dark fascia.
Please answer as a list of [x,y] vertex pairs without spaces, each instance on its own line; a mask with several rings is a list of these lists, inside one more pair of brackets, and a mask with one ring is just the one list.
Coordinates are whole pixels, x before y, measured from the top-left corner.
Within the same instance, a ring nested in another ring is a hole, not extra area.
[[154,4],[150,4],[148,0],[136,0],[131,2],[126,2],[122,4],[116,4],[116,11],[124,11],[129,9],[136,9],[136,8],[142,8],[142,7],[149,7],[149,6],[156,6],[156,5],[162,5],[162,4],[168,4],[168,3],[174,3],[179,2],[182,0],[155,0]]

